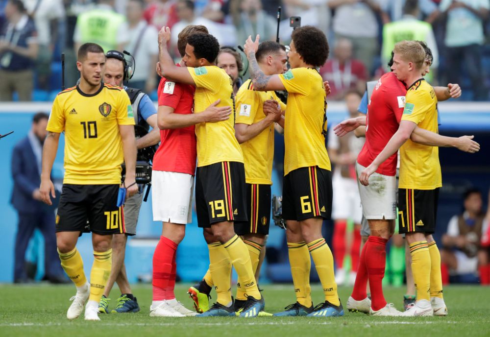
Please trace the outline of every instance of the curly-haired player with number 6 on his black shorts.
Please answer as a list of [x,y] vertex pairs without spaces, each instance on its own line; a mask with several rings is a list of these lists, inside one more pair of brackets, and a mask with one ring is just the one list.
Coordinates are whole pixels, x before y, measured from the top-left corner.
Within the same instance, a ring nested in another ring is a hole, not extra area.
[[[325,88],[317,70],[328,56],[325,34],[313,26],[293,31],[288,53],[291,70],[266,75],[257,63],[259,36],[245,43],[253,87],[259,91],[287,90],[284,125],[283,217],[296,302],[278,316],[341,316],[333,257],[321,236],[323,218],[332,211],[332,173],[325,148]],[[315,309],[311,299],[310,254],[325,295]]]

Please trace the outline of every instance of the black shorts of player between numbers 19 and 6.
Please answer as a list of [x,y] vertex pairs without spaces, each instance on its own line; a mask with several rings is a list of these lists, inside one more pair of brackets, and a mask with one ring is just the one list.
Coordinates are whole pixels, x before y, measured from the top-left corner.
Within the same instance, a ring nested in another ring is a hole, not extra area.
[[270,185],[246,184],[246,210],[248,221],[235,221],[235,233],[269,234]]

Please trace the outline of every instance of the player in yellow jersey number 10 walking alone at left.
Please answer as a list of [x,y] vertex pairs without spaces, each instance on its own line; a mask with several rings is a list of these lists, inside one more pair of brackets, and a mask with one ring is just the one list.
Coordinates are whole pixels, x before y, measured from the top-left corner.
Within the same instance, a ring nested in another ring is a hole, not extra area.
[[[41,187],[43,201],[51,204],[50,180],[60,133],[65,133],[65,178],[56,215],[56,244],[61,265],[76,286],[67,318],[85,308],[86,320],[99,320],[98,302],[111,272],[112,235],[125,233],[123,207],[118,207],[121,163],[126,163],[123,187],[127,196],[138,191],[135,181],[134,117],[123,88],[101,82],[103,49],[86,43],[78,49],[80,84],[56,96],[43,148]],[[89,220],[94,248],[90,283],[76,242]]]

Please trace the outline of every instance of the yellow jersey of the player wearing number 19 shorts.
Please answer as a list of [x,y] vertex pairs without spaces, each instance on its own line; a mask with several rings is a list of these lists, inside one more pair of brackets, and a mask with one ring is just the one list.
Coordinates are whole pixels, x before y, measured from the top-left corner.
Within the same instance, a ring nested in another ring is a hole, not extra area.
[[244,162],[240,144],[235,138],[235,104],[231,78],[216,66],[187,70],[196,84],[194,113],[203,112],[218,99],[218,106],[231,106],[233,115],[228,120],[196,124],[197,167],[220,162]]

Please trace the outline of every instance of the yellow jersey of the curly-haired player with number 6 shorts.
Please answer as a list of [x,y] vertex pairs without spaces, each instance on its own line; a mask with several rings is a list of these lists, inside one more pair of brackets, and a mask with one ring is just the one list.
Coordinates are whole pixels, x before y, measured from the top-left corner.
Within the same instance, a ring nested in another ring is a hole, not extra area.
[[279,75],[288,91],[284,121],[284,175],[310,166],[331,170],[322,135],[325,87],[313,68],[295,68]]

